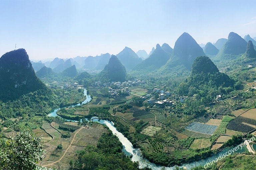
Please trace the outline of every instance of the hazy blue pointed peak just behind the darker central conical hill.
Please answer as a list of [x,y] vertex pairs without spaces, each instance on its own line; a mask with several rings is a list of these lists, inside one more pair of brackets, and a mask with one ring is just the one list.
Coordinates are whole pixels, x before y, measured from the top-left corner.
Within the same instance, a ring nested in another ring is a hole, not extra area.
[[137,64],[142,61],[142,59],[131,48],[127,46],[116,56],[128,70],[133,69]]

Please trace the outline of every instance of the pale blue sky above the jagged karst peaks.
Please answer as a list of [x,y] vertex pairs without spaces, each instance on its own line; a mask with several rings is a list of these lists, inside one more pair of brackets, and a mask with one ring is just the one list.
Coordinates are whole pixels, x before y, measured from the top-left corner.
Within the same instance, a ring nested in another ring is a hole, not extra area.
[[256,37],[255,0],[0,0],[0,56],[25,48],[30,59],[147,53],[189,33],[197,43],[230,32]]

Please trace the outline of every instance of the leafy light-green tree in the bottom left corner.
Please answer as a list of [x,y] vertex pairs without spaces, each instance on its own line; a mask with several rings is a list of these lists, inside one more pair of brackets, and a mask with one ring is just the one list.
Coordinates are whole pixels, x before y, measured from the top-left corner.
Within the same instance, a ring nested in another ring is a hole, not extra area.
[[3,148],[0,148],[0,169],[34,170],[43,159],[41,137],[29,132],[19,132],[11,136]]

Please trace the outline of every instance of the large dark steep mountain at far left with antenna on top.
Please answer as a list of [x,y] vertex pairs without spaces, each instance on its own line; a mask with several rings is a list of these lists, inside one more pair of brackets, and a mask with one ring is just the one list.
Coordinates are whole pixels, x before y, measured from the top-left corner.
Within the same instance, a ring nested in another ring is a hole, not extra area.
[[35,74],[25,49],[5,53],[0,58],[0,99],[9,101],[47,87]]

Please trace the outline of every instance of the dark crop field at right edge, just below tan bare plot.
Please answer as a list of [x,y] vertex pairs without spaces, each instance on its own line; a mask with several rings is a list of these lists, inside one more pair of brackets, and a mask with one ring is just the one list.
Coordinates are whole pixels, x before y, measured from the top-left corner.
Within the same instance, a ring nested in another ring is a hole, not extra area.
[[255,128],[248,126],[246,124],[243,124],[243,123],[247,123],[247,124],[256,126],[256,120],[239,116],[229,122],[227,129],[240,131],[243,133],[247,133],[247,132],[255,129]]

